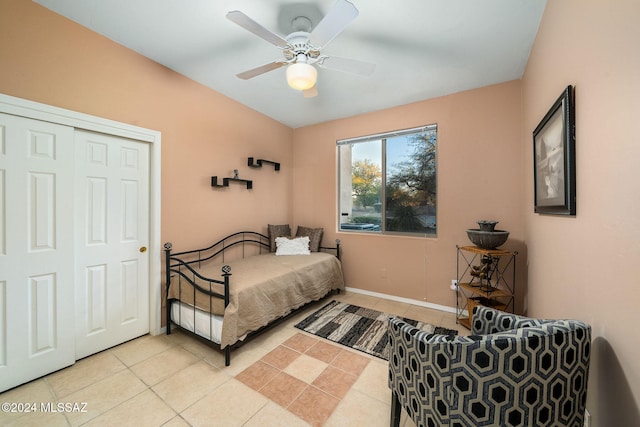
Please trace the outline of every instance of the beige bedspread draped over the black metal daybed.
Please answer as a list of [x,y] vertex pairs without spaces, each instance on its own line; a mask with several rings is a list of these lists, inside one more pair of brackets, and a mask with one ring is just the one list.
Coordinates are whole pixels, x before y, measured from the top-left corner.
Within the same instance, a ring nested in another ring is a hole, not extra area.
[[[225,264],[231,266],[231,277],[229,305],[224,310],[222,325],[222,348],[307,302],[322,298],[330,290],[344,289],[340,261],[328,253],[289,256],[269,253]],[[201,266],[198,272],[221,280],[221,268],[220,263],[210,263]],[[193,288],[184,279],[178,282],[178,277],[172,278],[169,298],[193,304]],[[198,284],[209,289],[206,281],[198,280]],[[214,289],[220,292],[221,288]],[[210,310],[209,296],[198,293],[195,302],[198,308]],[[221,300],[214,301],[214,314],[222,314],[223,306]]]

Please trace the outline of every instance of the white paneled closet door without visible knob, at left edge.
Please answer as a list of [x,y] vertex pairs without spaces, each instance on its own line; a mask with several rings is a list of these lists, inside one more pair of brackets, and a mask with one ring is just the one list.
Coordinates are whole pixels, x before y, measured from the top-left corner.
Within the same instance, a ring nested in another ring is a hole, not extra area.
[[0,114],[0,391],[75,360],[73,134]]

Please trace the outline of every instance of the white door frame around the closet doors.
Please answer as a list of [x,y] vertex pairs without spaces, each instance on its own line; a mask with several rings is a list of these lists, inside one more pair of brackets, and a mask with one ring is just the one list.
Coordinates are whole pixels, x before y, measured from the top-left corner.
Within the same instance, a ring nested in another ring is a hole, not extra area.
[[162,333],[160,319],[162,296],[160,276],[162,265],[160,240],[161,133],[4,94],[0,94],[0,112],[151,144],[149,146],[149,332],[151,335]]

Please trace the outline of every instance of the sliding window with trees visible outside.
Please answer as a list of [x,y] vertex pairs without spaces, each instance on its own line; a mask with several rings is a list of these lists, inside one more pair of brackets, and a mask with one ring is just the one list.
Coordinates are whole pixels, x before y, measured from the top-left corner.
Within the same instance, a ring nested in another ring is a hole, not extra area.
[[340,230],[435,236],[436,136],[429,125],[338,141]]

